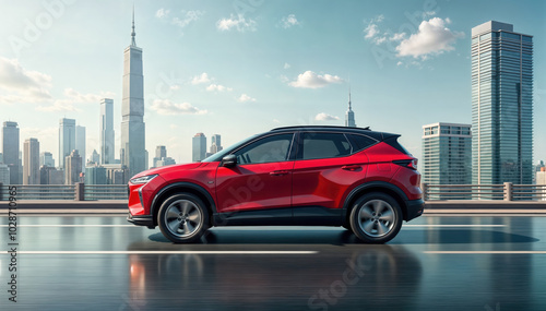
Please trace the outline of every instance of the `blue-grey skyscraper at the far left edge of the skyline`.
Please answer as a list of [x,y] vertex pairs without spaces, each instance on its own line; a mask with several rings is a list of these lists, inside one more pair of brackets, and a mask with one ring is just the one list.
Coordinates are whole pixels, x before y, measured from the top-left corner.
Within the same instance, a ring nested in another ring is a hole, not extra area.
[[10,168],[10,183],[21,184],[19,160],[19,128],[17,122],[5,121],[2,128],[3,163]]

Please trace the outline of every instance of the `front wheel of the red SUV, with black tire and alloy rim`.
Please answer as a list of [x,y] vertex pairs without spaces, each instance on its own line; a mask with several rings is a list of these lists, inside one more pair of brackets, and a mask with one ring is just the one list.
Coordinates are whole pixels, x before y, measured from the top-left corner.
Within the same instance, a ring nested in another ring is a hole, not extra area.
[[173,242],[192,243],[209,229],[209,211],[193,194],[175,194],[159,207],[157,224],[162,234]]

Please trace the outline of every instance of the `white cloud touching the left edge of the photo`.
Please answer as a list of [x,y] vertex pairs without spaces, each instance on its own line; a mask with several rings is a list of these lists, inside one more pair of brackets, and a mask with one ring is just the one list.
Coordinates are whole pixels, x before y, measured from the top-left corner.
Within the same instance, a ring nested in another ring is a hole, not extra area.
[[0,103],[40,103],[50,100],[51,76],[24,69],[16,59],[0,57]]

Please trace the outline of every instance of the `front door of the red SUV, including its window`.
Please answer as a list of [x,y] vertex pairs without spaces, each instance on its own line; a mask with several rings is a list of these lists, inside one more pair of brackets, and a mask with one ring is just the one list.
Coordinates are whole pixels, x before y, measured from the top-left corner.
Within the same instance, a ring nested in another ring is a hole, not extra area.
[[235,151],[237,165],[216,171],[217,211],[274,208],[270,216],[292,217],[293,141],[294,133],[271,134]]

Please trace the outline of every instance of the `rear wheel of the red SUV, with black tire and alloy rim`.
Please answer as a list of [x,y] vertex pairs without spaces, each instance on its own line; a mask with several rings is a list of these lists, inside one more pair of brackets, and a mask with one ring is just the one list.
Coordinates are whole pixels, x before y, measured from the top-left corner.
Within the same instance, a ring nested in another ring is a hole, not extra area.
[[353,232],[367,243],[385,243],[402,227],[402,210],[392,196],[372,192],[360,196],[351,212]]

